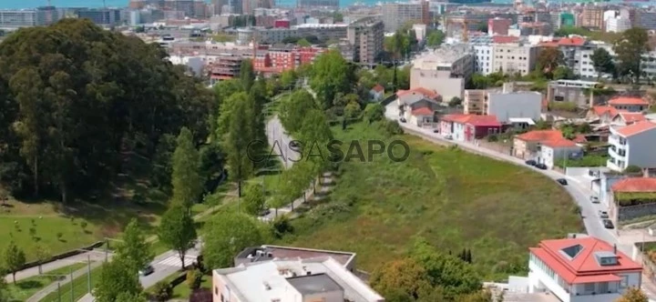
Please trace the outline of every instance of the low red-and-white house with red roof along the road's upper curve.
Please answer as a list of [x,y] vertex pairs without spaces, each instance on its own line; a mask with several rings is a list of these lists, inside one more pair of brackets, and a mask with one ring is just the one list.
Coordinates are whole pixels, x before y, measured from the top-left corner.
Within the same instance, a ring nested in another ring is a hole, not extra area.
[[500,132],[497,116],[446,115],[440,120],[440,133],[461,142],[474,142]]

